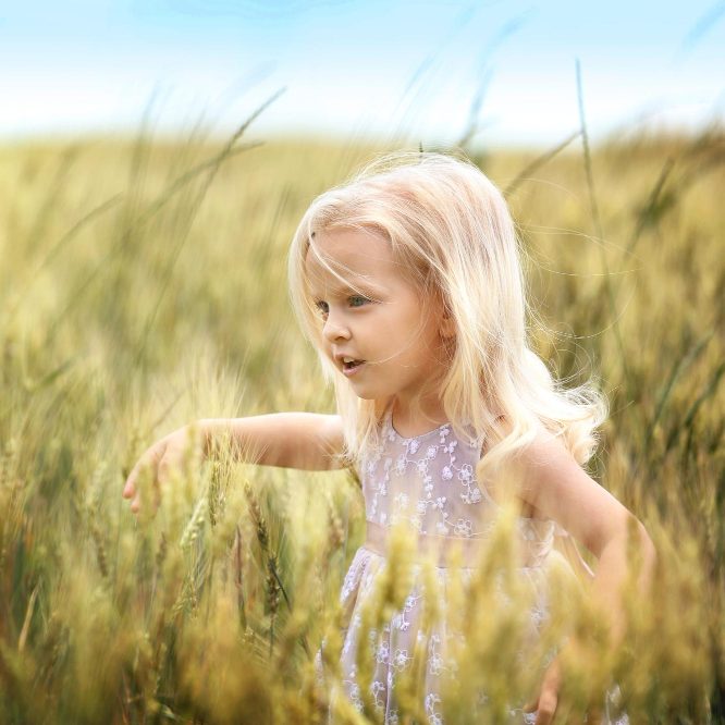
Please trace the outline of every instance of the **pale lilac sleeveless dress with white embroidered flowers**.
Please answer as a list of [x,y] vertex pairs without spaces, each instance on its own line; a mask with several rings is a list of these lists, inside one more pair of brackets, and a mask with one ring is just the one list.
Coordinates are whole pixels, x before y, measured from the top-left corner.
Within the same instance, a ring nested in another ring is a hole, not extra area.
[[[425,585],[420,576],[413,577],[404,605],[380,629],[371,631],[364,627],[365,604],[374,591],[378,578],[384,575],[386,539],[392,527],[401,523],[409,525],[417,537],[418,546],[434,552],[433,556],[439,560],[433,561],[438,591],[439,595],[443,592],[442,597],[445,598],[446,579],[451,574],[446,568],[450,552],[447,545],[454,546],[462,557],[458,560],[459,574],[467,580],[476,564],[477,552],[480,551],[478,546],[486,543],[500,506],[476,480],[476,464],[480,457],[482,440],[459,439],[451,423],[415,438],[404,438],[393,428],[389,409],[381,422],[379,441],[379,445],[368,452],[359,467],[367,537],[355,553],[340,594],[343,612],[343,692],[333,693],[332,699],[334,701],[334,697],[346,697],[360,712],[365,699],[369,704],[372,703],[380,722],[398,723],[394,686],[400,677],[410,672],[414,651],[419,640],[423,639],[425,674],[419,674],[425,678],[425,686],[419,712],[425,712],[426,721],[431,725],[441,725],[444,681],[446,678],[455,678],[457,671],[455,660],[447,654],[447,644],[456,635],[444,624],[433,626],[432,629],[425,626]],[[527,517],[517,518],[515,531],[523,564],[516,572],[520,573],[534,592],[529,611],[529,630],[530,636],[536,638],[548,618],[545,564],[552,555],[555,534],[566,537],[566,532],[551,519]],[[444,545],[437,545],[441,543]],[[414,563],[414,573],[419,575],[419,569]],[[445,601],[442,606],[445,609]],[[358,681],[358,647],[371,649],[373,672],[367,693],[360,691]],[[318,666],[321,668],[319,654]],[[549,654],[542,667],[549,664],[554,654],[555,651]],[[524,656],[521,653],[520,658]],[[521,664],[525,664],[523,659]],[[540,672],[543,673],[543,668]],[[610,696],[603,706],[602,722],[625,725],[628,723],[626,715],[617,721],[606,716]],[[484,704],[487,698],[486,691],[480,690],[478,705]],[[534,723],[536,712],[525,713],[524,704],[520,702],[508,706],[508,722]],[[333,709],[331,705],[331,722],[334,722]],[[475,722],[484,721],[477,718]]]

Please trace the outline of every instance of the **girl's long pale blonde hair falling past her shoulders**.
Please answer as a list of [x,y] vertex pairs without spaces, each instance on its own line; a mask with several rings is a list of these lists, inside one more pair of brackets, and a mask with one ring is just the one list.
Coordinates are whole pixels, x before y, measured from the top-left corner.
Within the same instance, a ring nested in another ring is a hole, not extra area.
[[455,342],[441,400],[454,428],[486,440],[482,470],[497,469],[542,427],[579,464],[589,459],[604,401],[591,384],[565,390],[529,347],[518,239],[501,193],[466,160],[403,152],[315,199],[290,249],[293,306],[334,383],[352,460],[377,441],[382,402],[358,398],[323,352],[305,258],[315,234],[332,229],[381,234],[420,288],[443,300]]

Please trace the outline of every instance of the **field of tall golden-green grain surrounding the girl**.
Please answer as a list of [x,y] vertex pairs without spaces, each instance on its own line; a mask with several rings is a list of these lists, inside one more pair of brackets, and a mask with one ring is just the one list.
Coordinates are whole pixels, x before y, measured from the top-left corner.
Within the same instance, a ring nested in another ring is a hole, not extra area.
[[[610,676],[631,723],[725,722],[725,135],[625,134],[590,155],[581,140],[471,152],[519,226],[537,351],[606,393],[591,472],[659,552],[650,599],[625,597],[625,647],[592,635],[556,722],[581,722]],[[324,722],[362,534],[354,477],[189,459],[138,519],[121,490],[194,419],[333,410],[286,246],[309,201],[379,150],[150,130],[0,148],[1,723]],[[489,616],[506,525],[462,615],[445,722],[470,722],[480,683],[491,723],[534,686],[515,607]],[[368,624],[404,598],[391,583]],[[554,619],[595,632],[567,602]],[[398,697],[401,722],[422,722],[415,683]],[[367,702],[334,715],[378,722]]]

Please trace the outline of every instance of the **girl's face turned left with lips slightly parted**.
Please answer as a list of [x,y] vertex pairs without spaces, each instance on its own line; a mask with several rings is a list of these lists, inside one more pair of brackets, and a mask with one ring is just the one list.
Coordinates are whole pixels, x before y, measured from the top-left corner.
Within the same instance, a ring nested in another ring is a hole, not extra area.
[[372,231],[316,235],[305,260],[325,354],[355,393],[408,404],[434,396],[446,369],[439,300],[421,298]]

